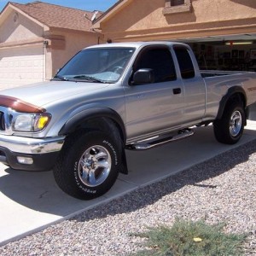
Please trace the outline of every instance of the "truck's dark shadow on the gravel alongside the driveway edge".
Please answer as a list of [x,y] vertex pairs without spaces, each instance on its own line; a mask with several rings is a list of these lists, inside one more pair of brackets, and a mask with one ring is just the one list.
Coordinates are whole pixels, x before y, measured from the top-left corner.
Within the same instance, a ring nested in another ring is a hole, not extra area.
[[[214,181],[209,181],[209,179],[218,177],[224,174],[224,172],[229,172],[235,166],[247,162],[250,156],[255,153],[256,140],[253,140],[238,148],[233,148],[223,154],[218,154],[211,160],[191,166],[173,176],[166,177],[146,187],[138,188],[130,194],[123,195],[105,205],[86,211],[79,217],[73,219],[86,222],[95,218],[107,218],[108,216],[117,214],[135,212],[138,209],[153,205],[166,195],[170,195],[188,185],[201,187],[201,189],[218,189],[218,186],[222,186],[222,184],[214,183]],[[243,169],[241,167],[241,177],[242,171]],[[175,201],[174,203],[172,201],[168,203],[170,207],[175,206]]]

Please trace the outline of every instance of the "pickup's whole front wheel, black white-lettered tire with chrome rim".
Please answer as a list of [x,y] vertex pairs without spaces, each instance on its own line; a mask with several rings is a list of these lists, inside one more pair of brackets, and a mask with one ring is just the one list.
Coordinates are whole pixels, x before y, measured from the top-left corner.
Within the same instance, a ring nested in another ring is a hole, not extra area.
[[90,200],[105,194],[119,175],[121,153],[102,131],[67,137],[53,170],[56,183],[68,195]]

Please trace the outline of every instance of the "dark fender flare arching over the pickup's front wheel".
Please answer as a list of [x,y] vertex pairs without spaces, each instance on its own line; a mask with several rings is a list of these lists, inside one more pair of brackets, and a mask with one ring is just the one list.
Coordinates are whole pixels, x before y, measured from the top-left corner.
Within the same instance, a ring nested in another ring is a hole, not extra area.
[[65,125],[62,126],[61,131],[59,131],[59,135],[62,136],[72,133],[79,125],[82,125],[84,121],[97,118],[112,119],[117,125],[119,125],[120,131],[122,132],[121,136],[124,138],[125,142],[126,132],[123,119],[121,119],[118,113],[110,108],[90,108],[75,114],[71,119],[67,120]]

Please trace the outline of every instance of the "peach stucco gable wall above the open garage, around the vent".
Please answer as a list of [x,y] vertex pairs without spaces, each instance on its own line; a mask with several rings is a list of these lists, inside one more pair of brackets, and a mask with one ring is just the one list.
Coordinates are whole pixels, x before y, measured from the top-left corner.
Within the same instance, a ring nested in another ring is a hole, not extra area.
[[191,12],[163,15],[165,0],[126,0],[100,26],[113,41],[189,38],[255,32],[255,0],[191,0]]

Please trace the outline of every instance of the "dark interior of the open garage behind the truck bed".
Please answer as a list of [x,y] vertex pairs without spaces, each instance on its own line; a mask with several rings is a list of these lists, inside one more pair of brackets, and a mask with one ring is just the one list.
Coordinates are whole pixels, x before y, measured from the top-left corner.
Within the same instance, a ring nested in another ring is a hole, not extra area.
[[256,72],[256,33],[179,41],[191,46],[201,70]]

